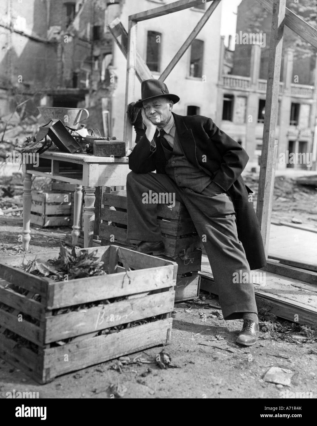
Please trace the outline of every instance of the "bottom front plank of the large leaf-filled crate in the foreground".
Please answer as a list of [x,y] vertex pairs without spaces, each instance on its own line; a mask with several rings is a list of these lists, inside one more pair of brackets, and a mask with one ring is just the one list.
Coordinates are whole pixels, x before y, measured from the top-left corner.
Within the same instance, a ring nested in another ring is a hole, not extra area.
[[[102,363],[122,355],[169,343],[172,318],[148,322],[119,333],[101,335],[58,348],[45,349],[44,368],[47,378],[56,377],[79,368]],[[161,350],[161,349],[160,349]],[[69,355],[65,363],[64,354]]]

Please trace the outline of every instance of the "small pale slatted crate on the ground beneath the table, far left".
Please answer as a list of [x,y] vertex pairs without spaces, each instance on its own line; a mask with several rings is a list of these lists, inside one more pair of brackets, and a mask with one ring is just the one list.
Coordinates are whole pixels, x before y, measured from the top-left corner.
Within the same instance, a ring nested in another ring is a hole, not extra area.
[[[68,200],[65,201],[65,196]],[[72,193],[32,191],[31,223],[41,227],[68,226]]]

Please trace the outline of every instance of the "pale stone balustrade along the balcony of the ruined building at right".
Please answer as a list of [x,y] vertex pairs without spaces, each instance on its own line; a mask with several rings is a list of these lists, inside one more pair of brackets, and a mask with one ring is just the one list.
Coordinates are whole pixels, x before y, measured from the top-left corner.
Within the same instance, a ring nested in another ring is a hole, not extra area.
[[[248,89],[248,91],[252,89],[250,77],[226,74],[222,76],[222,79],[223,79],[223,87],[226,89],[233,89],[233,90]],[[255,88],[255,91],[266,93],[266,85],[267,85],[266,80],[259,79],[257,87]],[[280,82],[279,93],[282,93],[285,91],[284,87],[285,87],[284,83]],[[314,86],[310,86],[308,84],[293,83],[291,84],[291,95],[311,99],[314,96]]]

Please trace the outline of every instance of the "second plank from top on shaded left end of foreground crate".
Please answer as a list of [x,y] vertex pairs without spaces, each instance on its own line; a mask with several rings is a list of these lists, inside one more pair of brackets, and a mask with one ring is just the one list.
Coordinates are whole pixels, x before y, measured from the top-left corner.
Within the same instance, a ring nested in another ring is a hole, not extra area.
[[41,320],[44,317],[44,305],[13,291],[11,288],[4,288],[0,285],[0,300],[1,303],[28,314],[37,320]]

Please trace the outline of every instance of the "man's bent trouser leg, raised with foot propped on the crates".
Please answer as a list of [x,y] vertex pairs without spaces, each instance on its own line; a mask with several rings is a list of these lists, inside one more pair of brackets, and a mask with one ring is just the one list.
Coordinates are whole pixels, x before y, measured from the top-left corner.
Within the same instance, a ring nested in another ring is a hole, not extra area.
[[174,193],[175,199],[181,201],[179,189],[167,175],[129,173],[127,176],[128,239],[162,241],[157,223],[157,204],[144,202],[144,194],[148,194],[149,190],[152,193]]

